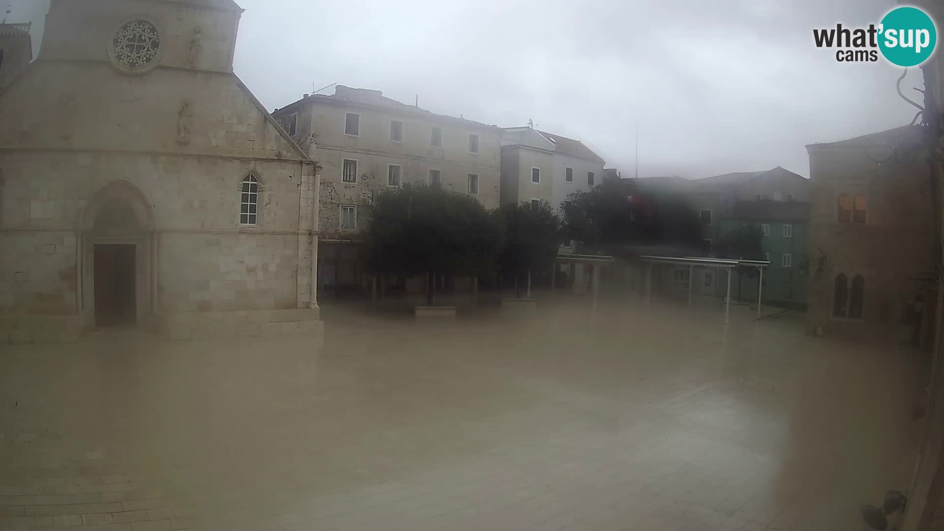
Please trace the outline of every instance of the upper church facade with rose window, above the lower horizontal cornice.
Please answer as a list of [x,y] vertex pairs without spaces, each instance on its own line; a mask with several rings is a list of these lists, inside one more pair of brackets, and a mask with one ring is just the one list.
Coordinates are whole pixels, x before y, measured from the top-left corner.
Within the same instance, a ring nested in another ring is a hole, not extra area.
[[40,60],[0,92],[0,146],[307,158],[229,69],[238,7],[214,7],[54,3]]

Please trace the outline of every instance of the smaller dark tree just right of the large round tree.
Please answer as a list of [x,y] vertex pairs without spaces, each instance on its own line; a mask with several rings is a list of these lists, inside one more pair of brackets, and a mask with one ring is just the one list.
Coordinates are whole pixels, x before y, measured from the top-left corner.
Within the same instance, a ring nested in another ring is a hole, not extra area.
[[[520,278],[551,268],[561,245],[561,222],[547,201],[505,204],[495,216],[504,232],[497,262],[503,274]],[[515,295],[521,296],[520,289]]]

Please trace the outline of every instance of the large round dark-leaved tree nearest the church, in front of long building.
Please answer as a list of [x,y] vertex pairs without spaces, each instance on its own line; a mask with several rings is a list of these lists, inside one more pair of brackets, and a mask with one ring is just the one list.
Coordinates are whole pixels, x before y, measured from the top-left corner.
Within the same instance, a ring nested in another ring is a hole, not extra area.
[[[494,267],[500,229],[471,196],[404,184],[380,195],[367,229],[368,266],[378,274],[479,275]],[[428,289],[428,303],[432,303]]]

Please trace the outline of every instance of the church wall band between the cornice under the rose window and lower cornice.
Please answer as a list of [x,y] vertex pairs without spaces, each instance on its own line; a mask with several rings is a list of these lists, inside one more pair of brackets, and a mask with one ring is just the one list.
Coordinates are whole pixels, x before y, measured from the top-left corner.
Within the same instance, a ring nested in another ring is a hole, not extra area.
[[306,158],[233,74],[121,76],[34,62],[0,93],[0,147]]

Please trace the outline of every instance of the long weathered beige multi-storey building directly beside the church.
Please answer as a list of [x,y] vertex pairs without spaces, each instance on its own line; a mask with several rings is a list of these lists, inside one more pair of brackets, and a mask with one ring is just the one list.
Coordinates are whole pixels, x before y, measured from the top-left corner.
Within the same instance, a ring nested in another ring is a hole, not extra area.
[[369,283],[359,242],[380,193],[407,182],[498,206],[501,129],[405,105],[380,91],[338,85],[273,115],[324,167],[319,282],[330,291]]

